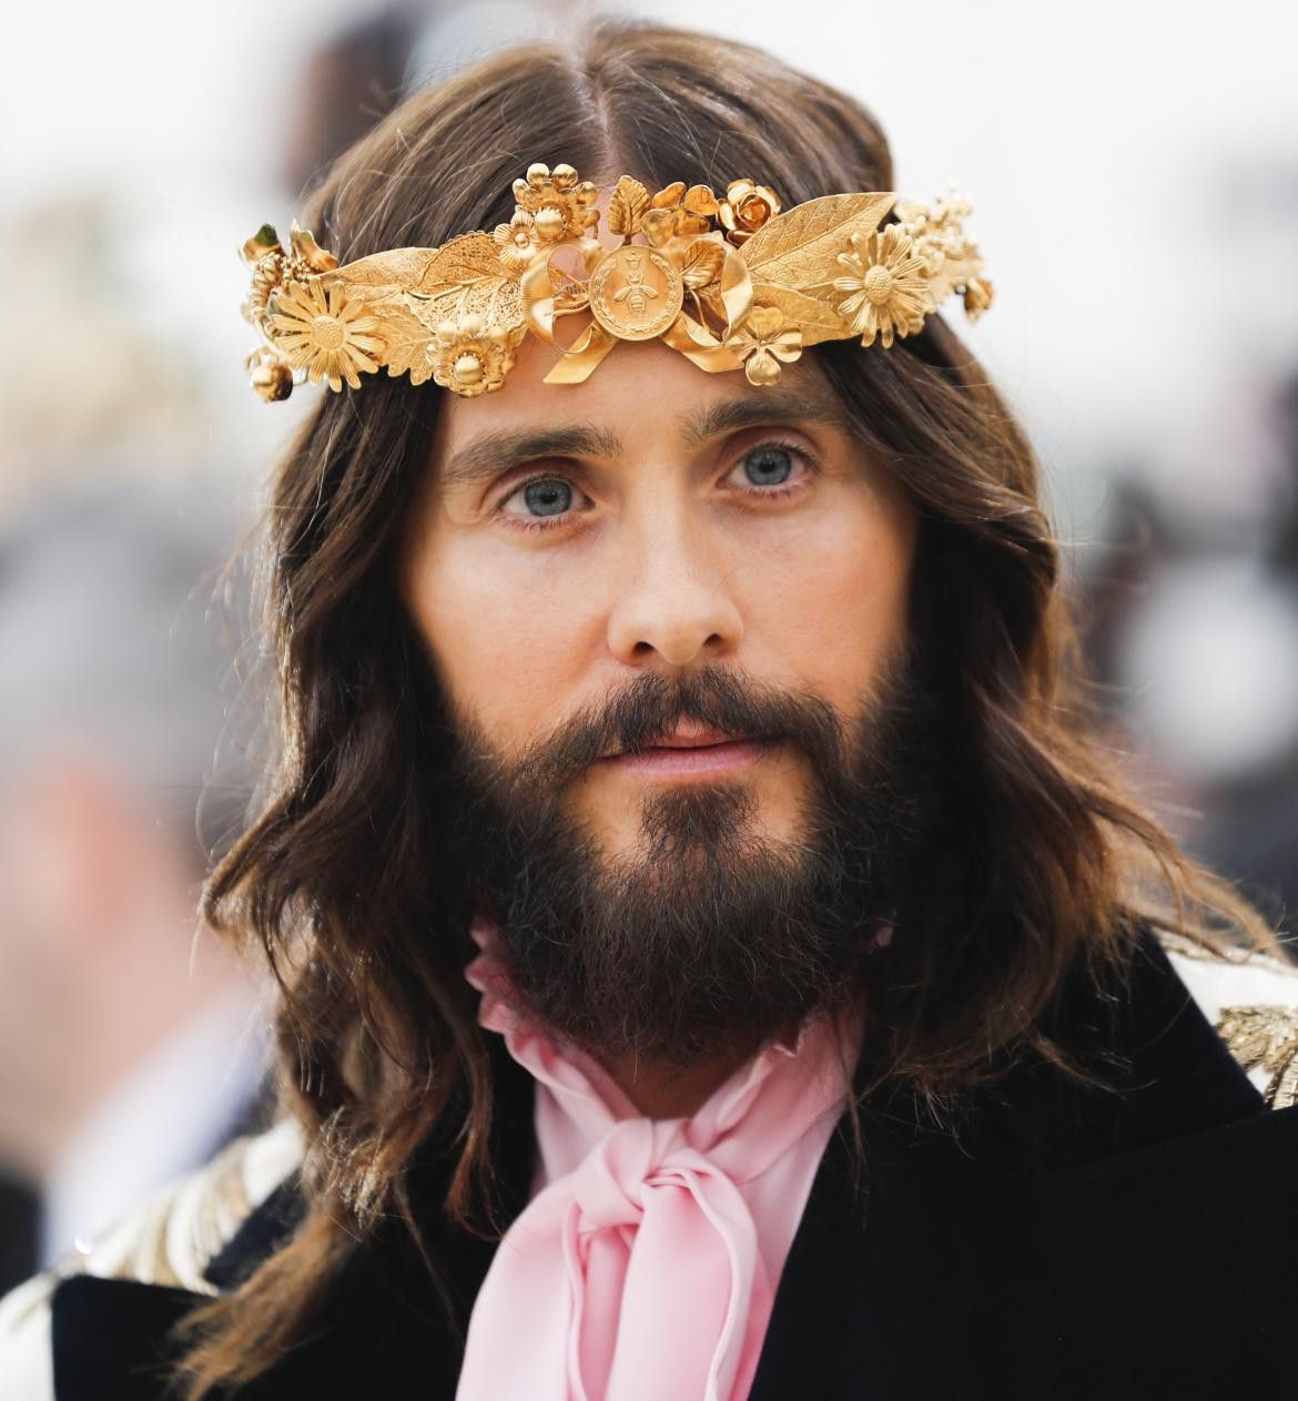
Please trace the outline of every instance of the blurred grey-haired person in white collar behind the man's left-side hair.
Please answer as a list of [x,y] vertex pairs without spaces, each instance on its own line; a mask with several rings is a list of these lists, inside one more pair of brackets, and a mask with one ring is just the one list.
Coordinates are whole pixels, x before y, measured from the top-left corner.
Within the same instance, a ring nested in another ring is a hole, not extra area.
[[224,510],[126,483],[0,532],[0,1290],[255,1118],[262,1019],[195,919],[247,797],[235,764],[198,829],[233,538]]

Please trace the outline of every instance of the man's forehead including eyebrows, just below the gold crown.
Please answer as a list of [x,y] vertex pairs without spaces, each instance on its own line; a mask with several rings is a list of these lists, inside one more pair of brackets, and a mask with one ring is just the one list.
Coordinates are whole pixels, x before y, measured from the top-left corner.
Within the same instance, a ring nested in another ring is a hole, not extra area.
[[432,465],[444,489],[533,441],[535,455],[615,458],[645,434],[698,447],[720,433],[767,423],[821,423],[847,432],[838,396],[814,357],[785,364],[774,385],[742,370],[712,374],[656,340],[620,340],[582,384],[545,384],[559,352],[528,335],[500,389],[446,394]]

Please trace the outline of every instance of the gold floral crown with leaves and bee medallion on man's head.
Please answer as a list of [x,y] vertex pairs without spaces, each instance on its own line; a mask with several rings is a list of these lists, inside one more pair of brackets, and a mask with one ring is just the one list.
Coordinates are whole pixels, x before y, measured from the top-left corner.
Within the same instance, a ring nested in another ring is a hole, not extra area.
[[[753,384],[774,384],[781,361],[819,340],[891,346],[952,293],[970,321],[991,305],[960,224],[971,206],[955,193],[934,209],[826,195],[781,213],[751,179],[718,199],[684,181],[650,195],[622,175],[613,248],[594,237],[599,191],[571,165],[528,165],[513,193],[514,216],[495,233],[343,266],[296,223],[287,251],[264,224],[241,249],[252,269],[244,317],[264,338],[245,360],[257,392],[283,399],[301,378],[360,388],[387,366],[472,396],[500,388],[528,331],[561,352],[547,384],[580,384],[618,340],[655,336],[704,370],[742,366]],[[894,206],[899,221],[880,228]],[[561,345],[555,328],[572,315],[589,319]]]

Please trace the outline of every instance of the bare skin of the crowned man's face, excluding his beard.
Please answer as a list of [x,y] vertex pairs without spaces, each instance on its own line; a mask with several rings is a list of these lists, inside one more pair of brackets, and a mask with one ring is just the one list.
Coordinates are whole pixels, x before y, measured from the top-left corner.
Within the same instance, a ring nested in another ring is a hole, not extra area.
[[[837,419],[814,357],[785,366],[778,388],[708,374],[655,340],[621,342],[580,385],[542,384],[554,359],[528,336],[500,391],[447,395],[407,525],[404,602],[457,713],[512,759],[642,670],[719,665],[820,696],[847,723],[904,642],[918,523]],[[754,403],[763,422],[691,440],[702,413]],[[486,434],[575,426],[610,441],[449,481]],[[757,451],[772,443],[788,457]],[[538,479],[558,513],[538,517],[524,493]],[[558,524],[527,528],[537,518]],[[597,761],[566,801],[603,855],[634,859],[646,785],[708,782],[751,787],[760,839],[798,841],[810,766],[788,744],[723,773]],[[641,1076],[628,1093],[670,1112],[730,1069]]]

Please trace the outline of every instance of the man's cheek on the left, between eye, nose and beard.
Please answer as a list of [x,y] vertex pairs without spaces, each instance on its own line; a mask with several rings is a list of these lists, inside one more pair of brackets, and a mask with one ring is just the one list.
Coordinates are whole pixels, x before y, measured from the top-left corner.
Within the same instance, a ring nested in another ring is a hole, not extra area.
[[[412,562],[407,605],[456,705],[506,747],[554,724],[587,657],[580,591],[559,570],[454,537]],[[589,609],[587,609],[589,611]]]

